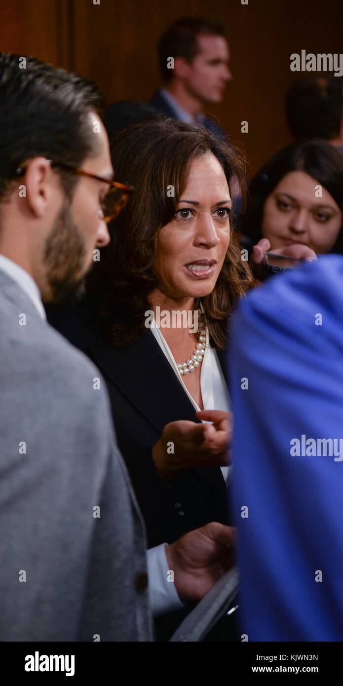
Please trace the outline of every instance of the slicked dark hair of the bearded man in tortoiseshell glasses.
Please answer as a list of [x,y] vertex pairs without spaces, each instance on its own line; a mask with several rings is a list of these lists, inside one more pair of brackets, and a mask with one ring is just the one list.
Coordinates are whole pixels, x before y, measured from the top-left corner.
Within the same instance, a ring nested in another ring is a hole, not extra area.
[[[32,57],[0,53],[0,200],[29,159],[80,166],[96,154],[91,112],[102,113],[95,84]],[[78,177],[56,171],[70,194]]]

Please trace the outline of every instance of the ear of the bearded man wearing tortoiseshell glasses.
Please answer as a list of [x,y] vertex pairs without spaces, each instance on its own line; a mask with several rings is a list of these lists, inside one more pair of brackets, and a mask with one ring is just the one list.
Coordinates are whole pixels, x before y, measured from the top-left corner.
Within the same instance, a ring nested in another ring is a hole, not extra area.
[[19,195],[24,187],[21,197],[26,198],[27,206],[37,219],[43,217],[49,208],[56,183],[56,176],[45,157],[34,157],[27,163]]

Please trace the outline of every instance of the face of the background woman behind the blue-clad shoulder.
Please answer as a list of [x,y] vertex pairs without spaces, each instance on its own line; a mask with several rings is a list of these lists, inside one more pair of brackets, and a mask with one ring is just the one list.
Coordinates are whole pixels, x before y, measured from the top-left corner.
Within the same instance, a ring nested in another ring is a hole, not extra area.
[[262,235],[272,250],[304,244],[318,254],[335,245],[342,225],[342,212],[330,193],[305,171],[291,171],[281,179],[263,206]]

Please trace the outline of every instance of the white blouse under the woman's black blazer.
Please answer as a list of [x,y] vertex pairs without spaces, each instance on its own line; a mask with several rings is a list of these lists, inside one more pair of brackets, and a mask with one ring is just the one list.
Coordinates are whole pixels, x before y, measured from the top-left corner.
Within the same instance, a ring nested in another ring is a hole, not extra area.
[[[193,397],[189,393],[189,390],[186,388],[185,383],[183,383],[182,377],[180,376],[180,372],[178,371],[178,365],[175,362],[169,345],[167,344],[167,341],[162,335],[161,329],[158,328],[155,319],[152,322],[151,331],[154,334],[154,337],[156,338],[158,345],[160,346],[160,348],[162,348],[163,353],[165,353],[165,357],[167,357],[169,364],[174,369],[174,372],[178,377],[178,380],[180,381],[183,390],[185,391],[185,393],[187,393],[193,407],[195,407],[196,411],[198,412],[200,410],[200,407],[198,407],[196,401],[193,399]],[[182,362],[182,360],[180,360],[180,362]],[[202,403],[204,405],[204,410],[224,410],[225,412],[231,412],[230,397],[226,387],[226,382],[224,379],[222,368],[220,367],[220,363],[215,353],[215,350],[209,347],[209,331],[207,329],[205,354],[202,359],[200,368],[200,389],[202,394]],[[226,480],[228,476],[228,470],[230,469],[230,467],[221,467],[220,469],[222,470],[224,480]]]

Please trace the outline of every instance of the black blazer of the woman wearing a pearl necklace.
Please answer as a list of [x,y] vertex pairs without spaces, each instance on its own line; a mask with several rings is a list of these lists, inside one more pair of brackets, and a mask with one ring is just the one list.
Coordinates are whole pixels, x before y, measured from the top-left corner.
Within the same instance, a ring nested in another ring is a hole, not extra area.
[[[49,322],[80,348],[106,380],[119,449],[145,519],[149,547],[172,543],[210,521],[227,523],[226,485],[220,467],[187,469],[163,486],[152,446],[163,427],[198,421],[187,394],[152,332],[126,348],[113,348],[93,333],[86,307],[50,307]],[[226,354],[217,351],[226,376]]]

